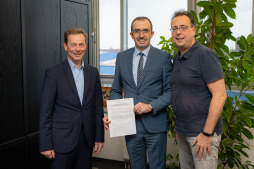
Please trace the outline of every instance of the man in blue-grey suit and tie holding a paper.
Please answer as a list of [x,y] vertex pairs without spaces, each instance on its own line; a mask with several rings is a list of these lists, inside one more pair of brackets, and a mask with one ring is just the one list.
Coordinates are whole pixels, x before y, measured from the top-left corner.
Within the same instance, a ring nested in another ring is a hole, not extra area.
[[[137,17],[131,24],[135,48],[117,55],[115,78],[110,100],[134,99],[137,134],[125,137],[132,169],[165,169],[167,142],[167,112],[171,103],[169,83],[172,63],[170,54],[154,48],[150,40],[154,35],[147,17]],[[109,130],[108,117],[103,118]]]

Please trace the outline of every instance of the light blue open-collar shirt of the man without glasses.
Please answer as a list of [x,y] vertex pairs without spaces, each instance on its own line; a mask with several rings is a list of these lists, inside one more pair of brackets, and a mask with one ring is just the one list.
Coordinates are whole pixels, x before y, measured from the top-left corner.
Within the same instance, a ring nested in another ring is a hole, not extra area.
[[84,61],[82,60],[82,64],[81,64],[80,68],[78,69],[78,67],[69,59],[69,57],[67,57],[67,58],[68,58],[69,65],[72,70],[72,74],[73,74],[76,88],[78,91],[80,103],[82,104],[83,94],[84,94],[84,72],[83,72]]

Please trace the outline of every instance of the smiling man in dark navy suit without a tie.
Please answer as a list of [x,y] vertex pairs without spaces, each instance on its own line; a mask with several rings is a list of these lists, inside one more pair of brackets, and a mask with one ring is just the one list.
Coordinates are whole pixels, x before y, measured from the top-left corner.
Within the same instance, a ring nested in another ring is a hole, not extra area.
[[98,70],[85,64],[87,34],[64,33],[68,57],[46,70],[40,110],[40,151],[53,169],[91,169],[92,151],[104,142],[103,102]]

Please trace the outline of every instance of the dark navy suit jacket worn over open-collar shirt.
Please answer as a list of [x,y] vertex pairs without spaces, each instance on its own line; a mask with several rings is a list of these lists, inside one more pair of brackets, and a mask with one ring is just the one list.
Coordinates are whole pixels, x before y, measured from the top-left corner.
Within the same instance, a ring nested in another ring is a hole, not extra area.
[[80,103],[66,59],[46,70],[40,109],[40,151],[67,153],[77,145],[84,126],[88,144],[104,142],[103,101],[98,70],[84,65],[84,96]]

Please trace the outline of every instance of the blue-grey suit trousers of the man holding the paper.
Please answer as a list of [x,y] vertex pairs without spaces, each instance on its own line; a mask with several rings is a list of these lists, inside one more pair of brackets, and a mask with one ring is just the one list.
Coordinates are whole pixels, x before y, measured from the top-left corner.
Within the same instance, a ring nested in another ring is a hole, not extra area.
[[167,132],[149,133],[141,120],[136,120],[137,134],[125,136],[132,169],[166,168]]

